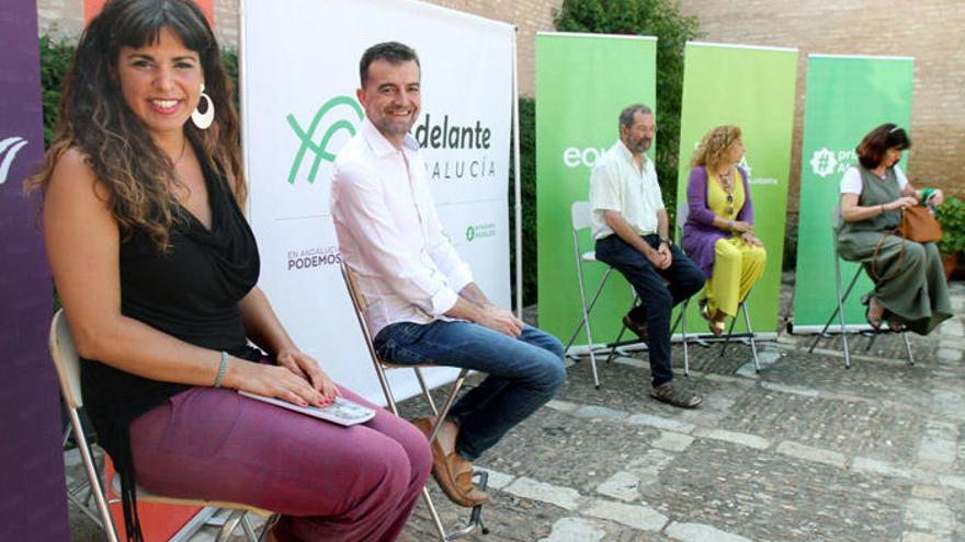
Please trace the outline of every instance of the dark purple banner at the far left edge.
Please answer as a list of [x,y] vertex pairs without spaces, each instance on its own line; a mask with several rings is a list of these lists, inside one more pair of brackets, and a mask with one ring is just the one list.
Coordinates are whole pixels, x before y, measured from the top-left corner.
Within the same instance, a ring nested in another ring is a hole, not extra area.
[[37,5],[0,10],[0,531],[69,540],[57,376],[47,353],[52,281],[23,180],[43,159]]

